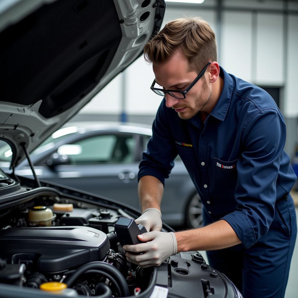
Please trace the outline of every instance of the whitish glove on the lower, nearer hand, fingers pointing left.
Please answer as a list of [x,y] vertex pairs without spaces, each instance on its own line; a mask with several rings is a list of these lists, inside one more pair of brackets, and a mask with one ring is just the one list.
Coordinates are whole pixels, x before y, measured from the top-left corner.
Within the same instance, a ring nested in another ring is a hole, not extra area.
[[[143,268],[159,266],[164,260],[177,253],[177,240],[173,232],[149,232],[138,235],[139,240],[148,241],[136,245],[125,245],[123,249],[128,251],[126,259]],[[136,252],[142,254],[130,254]]]

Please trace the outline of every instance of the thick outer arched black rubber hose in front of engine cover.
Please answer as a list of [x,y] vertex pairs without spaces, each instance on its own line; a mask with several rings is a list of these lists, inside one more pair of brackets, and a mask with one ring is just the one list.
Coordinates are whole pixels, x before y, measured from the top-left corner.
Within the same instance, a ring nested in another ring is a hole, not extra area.
[[110,275],[115,277],[115,279],[119,282],[120,288],[123,290],[124,296],[129,296],[129,289],[128,284],[126,283],[126,280],[124,276],[118,271],[117,268],[113,267],[112,265],[108,263],[104,263],[101,261],[94,261],[87,264],[84,264],[80,268],[78,268],[71,276],[67,277],[64,280],[64,283],[66,283],[67,287],[70,288],[70,286],[75,282],[75,280],[83,274],[85,271],[89,269],[101,269],[103,271],[107,271]]

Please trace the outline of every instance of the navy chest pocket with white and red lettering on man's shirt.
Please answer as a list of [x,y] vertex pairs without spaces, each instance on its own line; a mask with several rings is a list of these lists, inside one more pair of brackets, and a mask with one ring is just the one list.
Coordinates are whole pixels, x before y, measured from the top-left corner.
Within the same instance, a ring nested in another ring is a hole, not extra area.
[[231,201],[235,197],[238,159],[226,162],[213,157],[213,187],[210,196]]

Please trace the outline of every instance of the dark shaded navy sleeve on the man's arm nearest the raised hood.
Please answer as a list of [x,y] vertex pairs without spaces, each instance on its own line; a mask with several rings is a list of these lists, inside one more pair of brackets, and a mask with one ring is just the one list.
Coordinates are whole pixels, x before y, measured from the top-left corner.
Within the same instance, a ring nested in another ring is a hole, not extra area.
[[173,160],[178,153],[171,134],[166,108],[165,100],[163,100],[152,125],[152,137],[139,164],[138,180],[142,176],[150,175],[164,184],[164,179],[169,177],[174,166]]

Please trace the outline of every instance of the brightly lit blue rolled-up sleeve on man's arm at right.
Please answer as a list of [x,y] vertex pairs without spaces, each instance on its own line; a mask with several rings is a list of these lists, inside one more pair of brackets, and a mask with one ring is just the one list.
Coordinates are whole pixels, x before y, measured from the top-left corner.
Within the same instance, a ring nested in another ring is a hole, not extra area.
[[274,218],[276,180],[285,146],[285,123],[274,109],[260,111],[244,126],[237,162],[237,210],[221,219],[235,230],[246,248],[266,235]]

